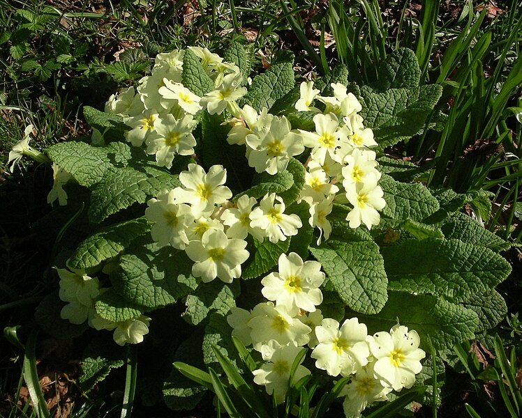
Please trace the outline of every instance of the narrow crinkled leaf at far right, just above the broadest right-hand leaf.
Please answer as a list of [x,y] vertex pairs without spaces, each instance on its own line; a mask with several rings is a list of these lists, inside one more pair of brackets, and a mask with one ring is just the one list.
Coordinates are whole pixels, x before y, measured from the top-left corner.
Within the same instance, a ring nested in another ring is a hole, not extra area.
[[456,213],[442,225],[442,232],[447,239],[454,238],[473,245],[487,247],[493,251],[509,248],[509,243],[491,233],[484,226],[463,213]]

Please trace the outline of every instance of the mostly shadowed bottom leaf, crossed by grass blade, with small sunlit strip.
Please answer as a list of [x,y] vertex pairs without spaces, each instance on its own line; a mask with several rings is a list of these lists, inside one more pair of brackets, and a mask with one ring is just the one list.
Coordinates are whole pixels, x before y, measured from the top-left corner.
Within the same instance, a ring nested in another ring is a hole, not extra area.
[[[205,369],[202,362],[202,336],[192,335],[181,343],[174,354],[174,362],[184,362]],[[202,385],[183,376],[172,367],[170,376],[163,383],[163,399],[172,410],[193,410],[206,392]]]

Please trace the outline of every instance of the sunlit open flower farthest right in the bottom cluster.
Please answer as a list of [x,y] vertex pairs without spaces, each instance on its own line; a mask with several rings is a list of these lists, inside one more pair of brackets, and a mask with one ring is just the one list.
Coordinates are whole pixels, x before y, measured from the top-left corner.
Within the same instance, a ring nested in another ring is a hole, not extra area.
[[404,325],[395,325],[390,332],[378,332],[368,337],[371,354],[375,358],[375,376],[394,390],[412,387],[415,375],[422,370],[421,359],[426,357],[419,348],[419,334]]

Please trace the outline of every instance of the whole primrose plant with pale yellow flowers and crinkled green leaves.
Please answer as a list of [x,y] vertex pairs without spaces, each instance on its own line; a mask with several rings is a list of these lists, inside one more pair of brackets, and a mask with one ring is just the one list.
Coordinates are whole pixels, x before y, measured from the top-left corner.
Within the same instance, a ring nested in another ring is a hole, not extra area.
[[[36,319],[56,336],[90,327],[147,345],[160,309],[181,307],[170,326],[186,339],[161,346],[178,365],[163,382],[174,410],[213,389],[179,365],[219,374],[225,356],[274,405],[310,379],[344,379],[335,393],[357,417],[426,384],[426,350],[505,313],[494,290],[509,274],[505,242],[460,212],[469,203],[487,217],[488,194],[430,191],[419,167],[383,153],[427,129],[440,98],[419,85],[415,54],[390,54],[380,82],[361,88],[342,66],[296,86],[292,61],[276,56],[250,81],[236,42],[223,57],[158,54],[105,111],[84,109],[91,139],[45,150],[50,217],[68,221],[59,291]],[[121,365],[100,361],[100,344],[82,363],[85,390]]]

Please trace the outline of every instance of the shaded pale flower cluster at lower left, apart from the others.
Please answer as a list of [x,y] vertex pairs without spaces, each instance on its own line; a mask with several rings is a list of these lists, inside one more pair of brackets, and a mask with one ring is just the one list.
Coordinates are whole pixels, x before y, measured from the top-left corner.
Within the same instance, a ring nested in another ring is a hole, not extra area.
[[89,326],[95,330],[114,330],[113,339],[124,346],[125,343],[136,344],[143,341],[143,336],[149,333],[149,321],[151,318],[140,315],[136,318],[114,322],[102,318],[96,313],[94,303],[96,297],[107,291],[100,288],[96,277],[90,277],[82,270],[67,270],[57,268],[60,278],[59,297],[67,304],[61,309],[62,319],[70,323],[80,325],[86,320]]

